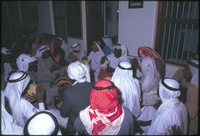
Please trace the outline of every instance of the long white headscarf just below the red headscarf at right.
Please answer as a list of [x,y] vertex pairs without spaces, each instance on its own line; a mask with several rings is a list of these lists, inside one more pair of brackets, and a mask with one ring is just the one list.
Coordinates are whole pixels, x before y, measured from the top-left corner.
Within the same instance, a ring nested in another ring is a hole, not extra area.
[[156,69],[156,64],[150,57],[142,57],[138,60],[142,71],[142,92],[149,92],[154,86],[157,86],[160,80],[160,74]]

